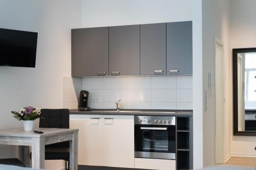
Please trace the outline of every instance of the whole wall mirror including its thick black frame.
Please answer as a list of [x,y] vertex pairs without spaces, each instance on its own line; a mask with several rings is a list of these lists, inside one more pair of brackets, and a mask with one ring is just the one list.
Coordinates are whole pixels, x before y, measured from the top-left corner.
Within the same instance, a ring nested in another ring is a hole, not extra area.
[[256,136],[256,48],[233,49],[233,134]]

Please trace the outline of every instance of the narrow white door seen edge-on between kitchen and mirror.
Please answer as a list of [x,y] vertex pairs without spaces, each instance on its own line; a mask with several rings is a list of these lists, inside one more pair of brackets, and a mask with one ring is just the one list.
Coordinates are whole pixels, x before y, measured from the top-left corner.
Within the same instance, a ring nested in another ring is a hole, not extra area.
[[223,46],[216,43],[216,59],[215,59],[215,94],[216,94],[216,163],[224,163],[223,145]]

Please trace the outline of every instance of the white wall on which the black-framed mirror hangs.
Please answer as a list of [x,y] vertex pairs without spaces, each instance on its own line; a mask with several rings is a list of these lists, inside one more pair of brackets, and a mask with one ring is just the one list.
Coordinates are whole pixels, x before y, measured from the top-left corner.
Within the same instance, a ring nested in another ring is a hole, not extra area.
[[[230,48],[256,46],[256,1],[230,1]],[[231,63],[231,61],[230,61]],[[230,112],[232,118],[232,112]],[[231,155],[256,157],[256,137],[233,136],[233,124],[230,125]]]

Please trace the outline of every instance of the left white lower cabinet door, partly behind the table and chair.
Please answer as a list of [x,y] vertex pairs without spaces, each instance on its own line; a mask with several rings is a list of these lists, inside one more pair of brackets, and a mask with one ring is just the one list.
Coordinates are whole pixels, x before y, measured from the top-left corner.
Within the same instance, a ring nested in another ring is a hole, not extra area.
[[102,165],[102,115],[70,115],[70,128],[78,131],[78,164]]

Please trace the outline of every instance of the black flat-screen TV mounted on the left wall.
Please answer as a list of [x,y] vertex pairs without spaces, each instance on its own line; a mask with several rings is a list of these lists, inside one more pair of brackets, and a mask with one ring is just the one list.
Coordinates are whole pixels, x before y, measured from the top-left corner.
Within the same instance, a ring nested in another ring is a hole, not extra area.
[[0,66],[35,67],[37,33],[0,29]]

